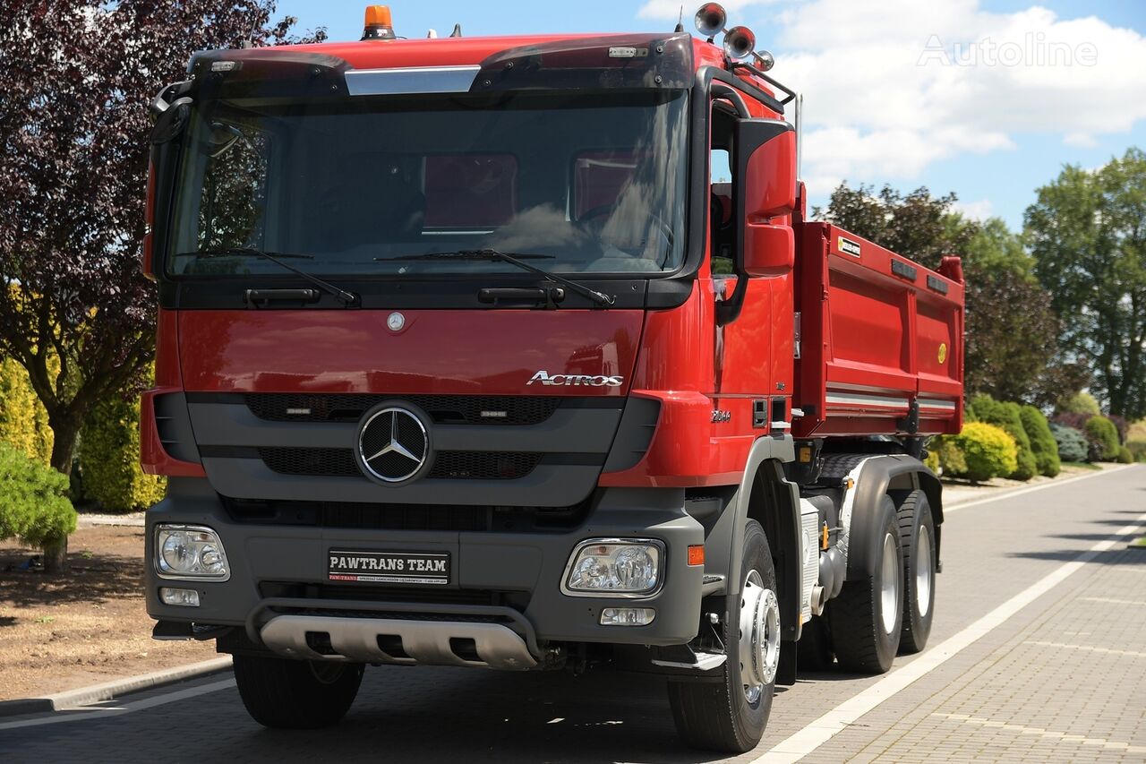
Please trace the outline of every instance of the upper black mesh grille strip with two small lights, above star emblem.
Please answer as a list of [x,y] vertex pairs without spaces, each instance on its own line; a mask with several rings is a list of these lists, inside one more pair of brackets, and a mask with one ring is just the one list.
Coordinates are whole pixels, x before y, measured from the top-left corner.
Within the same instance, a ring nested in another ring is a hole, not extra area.
[[539,424],[560,405],[560,398],[542,396],[384,396],[366,393],[259,392],[246,397],[246,406],[259,419],[272,422],[356,422],[383,400],[406,400],[424,410],[439,423]]

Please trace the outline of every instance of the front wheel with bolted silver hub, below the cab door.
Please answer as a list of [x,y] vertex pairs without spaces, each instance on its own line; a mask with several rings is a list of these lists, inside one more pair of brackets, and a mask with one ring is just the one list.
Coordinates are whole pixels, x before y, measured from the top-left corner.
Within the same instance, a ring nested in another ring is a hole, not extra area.
[[[768,726],[779,665],[779,603],[768,538],[754,520],[744,530],[740,576],[741,592],[727,598],[723,618],[723,680],[668,685],[676,731],[693,748],[743,754],[756,747]],[[753,624],[747,634],[745,621]],[[749,649],[746,642],[763,647]]]

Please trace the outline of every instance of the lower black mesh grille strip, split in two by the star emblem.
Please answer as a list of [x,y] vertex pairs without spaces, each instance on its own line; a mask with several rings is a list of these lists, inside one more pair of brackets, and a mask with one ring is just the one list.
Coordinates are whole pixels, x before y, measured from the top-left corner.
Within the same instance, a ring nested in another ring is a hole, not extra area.
[[[501,480],[525,477],[544,454],[516,451],[439,451],[429,477]],[[259,449],[259,458],[281,475],[361,477],[350,449]]]

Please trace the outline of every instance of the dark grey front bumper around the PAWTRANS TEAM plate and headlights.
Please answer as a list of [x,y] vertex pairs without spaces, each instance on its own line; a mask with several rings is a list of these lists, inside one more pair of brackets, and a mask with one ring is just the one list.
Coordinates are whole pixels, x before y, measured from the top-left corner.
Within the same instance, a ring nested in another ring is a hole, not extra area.
[[[230,561],[230,579],[196,583],[160,579],[152,562],[156,523],[201,524],[214,529]],[[354,648],[358,653],[347,657],[359,660],[405,662],[386,661],[385,655],[378,657],[370,646],[380,645],[375,639],[377,636],[402,633],[409,636],[413,645],[423,646],[419,649],[427,656],[442,652],[442,645],[448,646],[449,639],[470,640],[473,645],[485,639],[487,645],[504,646],[504,649],[489,648],[487,653],[512,655],[511,646],[502,639],[504,633],[500,629],[504,629],[516,634],[540,662],[548,646],[555,642],[682,645],[696,637],[700,621],[704,567],[688,564],[688,547],[704,543],[704,529],[685,513],[683,491],[678,489],[599,490],[589,512],[574,528],[531,531],[494,528],[457,532],[238,521],[228,513],[207,481],[174,478],[167,498],[148,510],[147,524],[147,609],[151,617],[240,627],[256,645],[270,644],[280,654],[290,654],[285,646],[297,650],[297,657],[314,657],[313,644],[309,646],[312,654],[304,648],[307,648],[307,633],[315,631],[328,634],[330,640],[330,645],[323,641],[319,654],[324,654],[340,639],[344,649],[346,645],[358,646]],[[580,541],[597,537],[662,541],[661,587],[645,598],[562,593],[562,577],[570,554]],[[331,585],[325,567],[331,548],[448,552],[453,560],[450,580],[448,585],[423,587]],[[160,602],[159,587],[173,585],[197,590],[199,607]],[[283,597],[284,587],[293,594],[306,595]],[[337,597],[331,595],[335,590]],[[484,593],[489,593],[495,602],[465,603],[469,595]],[[424,600],[419,599],[423,594]],[[657,615],[645,626],[602,626],[602,609],[619,606],[650,607]],[[278,625],[267,632],[269,624],[283,616],[325,618],[335,625],[320,630],[307,629],[301,621],[278,621]],[[343,622],[350,619],[399,623],[390,624],[388,632],[385,624],[367,626],[359,623],[354,627],[343,627]],[[433,623],[441,627],[435,631],[426,625]],[[476,623],[496,624],[499,629],[465,625]],[[457,633],[446,633],[449,629]],[[269,636],[265,638],[265,634]],[[378,650],[384,653],[380,647]],[[418,661],[417,656],[409,655],[411,662],[456,663]]]

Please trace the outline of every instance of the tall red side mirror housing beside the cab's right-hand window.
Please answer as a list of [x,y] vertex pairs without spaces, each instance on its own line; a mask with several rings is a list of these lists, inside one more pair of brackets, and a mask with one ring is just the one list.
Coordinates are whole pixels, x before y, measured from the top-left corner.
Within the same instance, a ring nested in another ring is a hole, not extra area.
[[795,209],[795,130],[779,119],[741,119],[736,125],[735,201],[738,271],[777,275],[795,263],[790,225],[771,219]]

